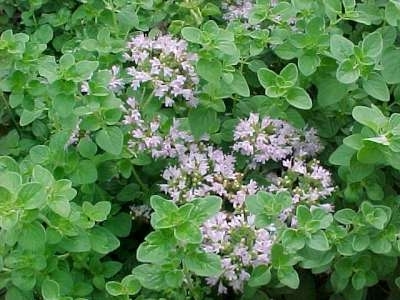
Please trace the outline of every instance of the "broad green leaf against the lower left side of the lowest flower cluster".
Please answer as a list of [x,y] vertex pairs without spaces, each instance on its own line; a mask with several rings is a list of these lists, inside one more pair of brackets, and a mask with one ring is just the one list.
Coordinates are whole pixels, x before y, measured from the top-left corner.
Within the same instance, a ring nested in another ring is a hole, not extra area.
[[188,253],[184,264],[198,276],[218,277],[222,273],[221,258],[214,253]]

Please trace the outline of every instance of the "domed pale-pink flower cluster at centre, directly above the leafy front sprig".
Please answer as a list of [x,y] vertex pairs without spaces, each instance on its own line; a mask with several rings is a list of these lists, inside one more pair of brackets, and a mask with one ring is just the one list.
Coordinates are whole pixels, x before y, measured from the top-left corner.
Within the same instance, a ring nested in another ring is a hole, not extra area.
[[203,144],[192,144],[187,153],[177,157],[175,165],[168,166],[161,190],[177,202],[191,201],[195,197],[218,195],[242,207],[247,195],[256,193],[255,181],[243,182],[243,174],[235,172],[235,158],[222,150]]

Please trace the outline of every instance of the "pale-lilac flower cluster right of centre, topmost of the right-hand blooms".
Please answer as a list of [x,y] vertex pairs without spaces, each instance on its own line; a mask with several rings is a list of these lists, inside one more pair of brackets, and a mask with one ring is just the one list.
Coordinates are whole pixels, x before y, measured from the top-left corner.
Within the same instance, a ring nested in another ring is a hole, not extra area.
[[284,121],[261,119],[254,113],[239,122],[233,138],[233,150],[250,157],[250,168],[269,160],[280,162],[292,155],[313,156],[321,150],[314,130],[302,134]]

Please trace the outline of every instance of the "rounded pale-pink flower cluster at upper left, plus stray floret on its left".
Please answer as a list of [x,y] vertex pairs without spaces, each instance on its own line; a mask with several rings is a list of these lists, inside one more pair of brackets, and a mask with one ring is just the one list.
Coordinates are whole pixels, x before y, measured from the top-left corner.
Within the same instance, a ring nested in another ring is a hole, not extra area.
[[[131,78],[133,90],[148,87],[154,96],[170,107],[176,98],[183,98],[190,106],[197,105],[195,87],[199,78],[194,69],[197,56],[187,52],[187,44],[169,35],[151,39],[143,34],[134,37],[128,43],[128,51],[124,54],[132,66],[126,69]],[[113,70],[112,89],[122,88],[117,79],[119,70]]]

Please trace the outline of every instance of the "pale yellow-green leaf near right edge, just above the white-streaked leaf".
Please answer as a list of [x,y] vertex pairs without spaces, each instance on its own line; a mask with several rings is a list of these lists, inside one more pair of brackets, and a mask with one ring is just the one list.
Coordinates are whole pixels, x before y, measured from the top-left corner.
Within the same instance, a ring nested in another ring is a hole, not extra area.
[[356,106],[353,108],[352,116],[358,123],[371,128],[375,132],[379,132],[388,121],[379,108],[374,105],[371,108]]

